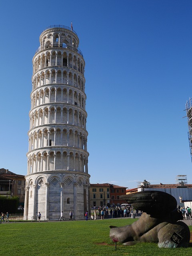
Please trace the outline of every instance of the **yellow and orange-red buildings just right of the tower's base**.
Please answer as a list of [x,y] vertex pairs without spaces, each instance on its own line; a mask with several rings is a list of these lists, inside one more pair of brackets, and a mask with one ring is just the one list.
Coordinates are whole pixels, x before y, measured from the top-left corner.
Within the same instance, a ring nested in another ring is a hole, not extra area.
[[115,207],[126,203],[120,196],[126,194],[126,187],[114,184],[90,184],[90,205],[91,207],[108,206]]

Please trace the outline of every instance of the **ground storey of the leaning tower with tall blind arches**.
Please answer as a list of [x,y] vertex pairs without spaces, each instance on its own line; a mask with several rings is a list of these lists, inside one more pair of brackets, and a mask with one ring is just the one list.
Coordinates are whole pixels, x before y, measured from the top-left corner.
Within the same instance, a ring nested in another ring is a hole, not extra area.
[[[46,212],[46,184],[49,184],[48,212]],[[61,191],[61,184],[63,189]],[[74,191],[74,184],[76,192]],[[60,216],[61,211],[68,215],[70,211],[76,216],[84,216],[84,188],[86,188],[86,208],[88,209],[89,175],[81,173],[29,174],[26,176],[26,186],[29,187],[28,218],[37,216]],[[61,197],[62,193],[62,197]],[[74,204],[76,197],[76,205]],[[34,208],[35,205],[35,208]],[[61,205],[63,205],[61,209]]]

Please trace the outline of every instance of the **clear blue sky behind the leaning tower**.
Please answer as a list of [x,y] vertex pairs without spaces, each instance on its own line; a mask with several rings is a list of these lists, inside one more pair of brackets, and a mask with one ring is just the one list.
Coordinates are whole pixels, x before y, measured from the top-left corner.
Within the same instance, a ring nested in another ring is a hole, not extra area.
[[[53,4],[54,3],[54,4]],[[0,168],[27,174],[32,58],[41,32],[69,26],[86,62],[91,183],[192,183],[192,1],[3,1]]]

